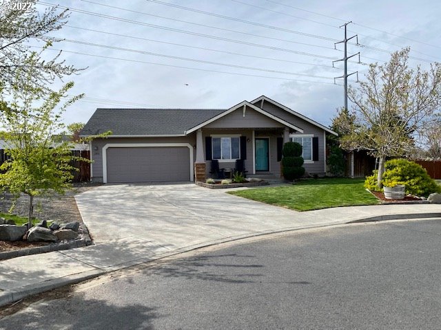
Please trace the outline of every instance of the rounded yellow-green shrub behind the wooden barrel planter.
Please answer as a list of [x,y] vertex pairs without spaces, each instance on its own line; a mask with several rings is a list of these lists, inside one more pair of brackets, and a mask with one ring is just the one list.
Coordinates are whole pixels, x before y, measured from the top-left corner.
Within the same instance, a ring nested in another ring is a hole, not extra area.
[[[365,188],[373,191],[382,191],[377,186],[378,170],[366,177]],[[432,192],[441,192],[441,187],[429,177],[427,170],[421,165],[409,162],[407,159],[391,159],[384,163],[383,186],[393,187],[402,184],[406,193],[417,196],[429,196]]]

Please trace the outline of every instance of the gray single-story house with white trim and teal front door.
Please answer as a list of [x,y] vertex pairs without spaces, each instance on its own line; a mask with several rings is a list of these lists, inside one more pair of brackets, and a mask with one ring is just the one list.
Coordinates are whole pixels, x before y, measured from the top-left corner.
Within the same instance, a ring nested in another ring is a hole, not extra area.
[[92,181],[204,181],[212,159],[247,175],[280,177],[283,143],[303,146],[309,174],[326,173],[326,138],[336,133],[267,96],[229,109],[96,109],[81,136],[90,142]]

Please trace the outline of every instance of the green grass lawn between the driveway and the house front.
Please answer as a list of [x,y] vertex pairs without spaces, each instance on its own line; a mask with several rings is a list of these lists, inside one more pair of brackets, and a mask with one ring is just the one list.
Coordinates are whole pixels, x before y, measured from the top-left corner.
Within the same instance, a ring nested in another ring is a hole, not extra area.
[[365,179],[327,178],[298,181],[291,186],[237,190],[229,194],[298,211],[378,204],[363,188]]

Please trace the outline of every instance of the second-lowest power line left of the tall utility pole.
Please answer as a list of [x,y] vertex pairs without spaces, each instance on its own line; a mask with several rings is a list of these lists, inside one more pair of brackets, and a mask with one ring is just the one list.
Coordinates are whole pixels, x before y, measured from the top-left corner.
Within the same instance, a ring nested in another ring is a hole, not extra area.
[[247,69],[247,70],[253,70],[253,71],[260,71],[260,72],[270,72],[270,73],[274,73],[274,74],[288,74],[291,76],[302,76],[302,77],[311,77],[311,78],[320,78],[320,79],[332,79],[332,78],[326,77],[326,76],[312,76],[310,74],[299,74],[296,72],[285,72],[285,71],[278,71],[278,70],[273,70],[273,69],[262,69],[260,67],[247,67],[245,65],[234,65],[234,64],[228,64],[228,63],[205,61],[205,60],[199,60],[197,58],[187,58],[187,57],[173,56],[173,55],[167,55],[167,54],[158,54],[158,53],[153,53],[153,52],[147,52],[145,50],[132,50],[130,48],[125,48],[125,47],[101,45],[99,43],[88,43],[86,41],[78,41],[78,40],[72,40],[72,39],[63,39],[63,41],[66,41],[68,43],[77,43],[80,45],[88,45],[88,46],[94,46],[94,47],[107,48],[110,50],[122,50],[123,52],[132,52],[132,53],[138,53],[138,54],[144,54],[144,55],[150,55],[150,56],[173,58],[175,60],[181,60],[181,61],[205,63],[205,64],[209,64],[209,65],[220,65],[223,67],[234,67],[236,69]]

